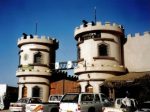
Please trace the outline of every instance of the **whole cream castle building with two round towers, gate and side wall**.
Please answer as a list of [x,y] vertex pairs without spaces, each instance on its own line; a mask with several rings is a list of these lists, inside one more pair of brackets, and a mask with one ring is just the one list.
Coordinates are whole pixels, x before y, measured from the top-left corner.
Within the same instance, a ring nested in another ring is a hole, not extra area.
[[125,36],[122,25],[83,21],[75,28],[74,38],[77,41],[74,73],[78,77],[55,73],[55,52],[59,46],[56,39],[26,34],[18,39],[18,99],[40,97],[47,101],[49,94],[99,93],[104,86],[114,99],[120,95],[117,91],[122,91],[123,84],[133,85],[136,87],[131,88],[133,93],[137,89],[144,95],[145,90],[139,85],[145,88],[150,83],[150,32]]

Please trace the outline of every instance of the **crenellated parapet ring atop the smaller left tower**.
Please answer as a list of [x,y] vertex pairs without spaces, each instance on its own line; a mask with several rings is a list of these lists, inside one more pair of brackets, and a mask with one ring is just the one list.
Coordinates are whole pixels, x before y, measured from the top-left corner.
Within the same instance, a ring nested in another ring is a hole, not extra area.
[[39,37],[38,35],[23,35],[18,39],[18,47],[21,47],[24,44],[45,44],[47,46],[55,46],[58,48],[59,41],[55,38],[50,38],[46,36]]

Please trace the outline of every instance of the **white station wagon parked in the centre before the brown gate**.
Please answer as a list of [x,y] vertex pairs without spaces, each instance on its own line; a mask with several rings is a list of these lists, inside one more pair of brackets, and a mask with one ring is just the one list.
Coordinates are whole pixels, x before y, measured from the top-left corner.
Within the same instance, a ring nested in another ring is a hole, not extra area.
[[102,112],[112,103],[103,93],[67,93],[59,105],[59,112]]

